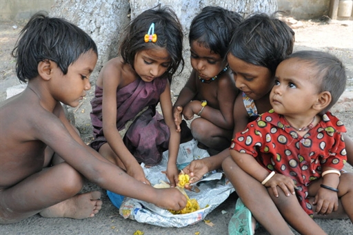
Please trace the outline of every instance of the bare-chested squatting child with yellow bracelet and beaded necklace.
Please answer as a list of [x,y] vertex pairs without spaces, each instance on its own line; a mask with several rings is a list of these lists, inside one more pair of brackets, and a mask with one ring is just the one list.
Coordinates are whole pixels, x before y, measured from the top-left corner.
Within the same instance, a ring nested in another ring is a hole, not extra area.
[[220,7],[203,8],[190,25],[192,72],[174,103],[177,130],[181,114],[193,119],[194,139],[208,148],[221,151],[229,147],[233,130],[233,103],[238,94],[225,59],[232,33],[242,17]]

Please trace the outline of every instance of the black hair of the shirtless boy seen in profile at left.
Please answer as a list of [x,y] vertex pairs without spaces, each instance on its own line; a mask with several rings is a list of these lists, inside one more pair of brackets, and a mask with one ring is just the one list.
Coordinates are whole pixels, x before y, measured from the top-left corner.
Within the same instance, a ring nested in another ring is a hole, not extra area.
[[17,77],[26,82],[39,75],[40,61],[54,61],[67,74],[69,65],[88,50],[98,55],[97,45],[79,27],[65,19],[50,18],[46,12],[37,12],[21,30],[11,54],[17,59]]

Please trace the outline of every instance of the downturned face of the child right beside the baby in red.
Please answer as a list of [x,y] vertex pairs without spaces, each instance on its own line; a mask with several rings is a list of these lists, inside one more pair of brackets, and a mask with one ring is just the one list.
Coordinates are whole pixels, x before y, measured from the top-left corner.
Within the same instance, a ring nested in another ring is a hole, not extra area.
[[234,57],[232,53],[228,54],[227,59],[233,72],[236,88],[244,92],[250,99],[256,101],[271,91],[273,77],[268,68],[247,63]]

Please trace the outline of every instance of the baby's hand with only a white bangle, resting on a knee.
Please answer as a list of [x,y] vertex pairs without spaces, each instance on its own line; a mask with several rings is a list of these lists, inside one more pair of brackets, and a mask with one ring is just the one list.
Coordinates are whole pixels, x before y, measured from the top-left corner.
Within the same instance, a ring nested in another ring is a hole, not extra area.
[[277,191],[276,186],[281,187],[286,196],[290,196],[290,194],[295,195],[294,187],[296,186],[294,185],[292,178],[288,176],[283,174],[274,174],[274,176],[272,176],[272,178],[265,183],[265,187],[271,187],[274,196],[279,197],[279,192]]

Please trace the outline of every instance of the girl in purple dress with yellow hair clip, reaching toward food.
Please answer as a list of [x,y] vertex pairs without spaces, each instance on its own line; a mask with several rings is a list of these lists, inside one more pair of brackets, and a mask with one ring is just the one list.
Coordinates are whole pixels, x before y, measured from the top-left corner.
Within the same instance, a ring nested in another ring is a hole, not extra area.
[[[174,187],[180,134],[172,118],[170,81],[183,65],[181,25],[170,8],[157,7],[142,12],[126,31],[121,57],[108,61],[97,79],[90,145],[147,184],[139,163],[157,165],[169,149],[167,176]],[[155,109],[159,101],[164,121]]]

